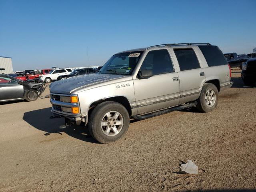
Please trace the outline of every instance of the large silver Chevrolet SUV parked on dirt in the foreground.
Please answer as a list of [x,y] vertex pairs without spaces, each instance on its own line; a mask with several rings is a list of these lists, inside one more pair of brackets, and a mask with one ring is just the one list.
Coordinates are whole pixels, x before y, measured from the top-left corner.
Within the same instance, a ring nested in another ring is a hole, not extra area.
[[211,112],[230,79],[217,46],[163,44],[117,53],[96,74],[52,83],[50,102],[66,125],[83,122],[93,138],[109,143],[127,132],[131,118],[192,106]]

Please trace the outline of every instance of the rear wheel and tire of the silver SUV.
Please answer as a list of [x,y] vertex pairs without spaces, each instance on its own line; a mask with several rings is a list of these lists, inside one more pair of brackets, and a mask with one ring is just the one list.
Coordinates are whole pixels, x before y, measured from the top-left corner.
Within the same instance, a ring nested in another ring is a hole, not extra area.
[[[196,100],[198,103],[196,108],[198,108],[198,110],[200,110],[201,112],[211,112],[218,105],[218,97],[219,92],[217,87],[214,84],[205,83],[203,85],[199,98]],[[212,98],[214,98],[214,100],[212,100]]]

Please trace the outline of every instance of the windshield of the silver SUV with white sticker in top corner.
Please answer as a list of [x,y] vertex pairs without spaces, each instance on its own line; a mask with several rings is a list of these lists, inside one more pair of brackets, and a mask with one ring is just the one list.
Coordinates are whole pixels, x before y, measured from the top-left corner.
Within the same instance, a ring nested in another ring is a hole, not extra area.
[[100,74],[131,75],[142,52],[125,52],[113,55],[100,69]]

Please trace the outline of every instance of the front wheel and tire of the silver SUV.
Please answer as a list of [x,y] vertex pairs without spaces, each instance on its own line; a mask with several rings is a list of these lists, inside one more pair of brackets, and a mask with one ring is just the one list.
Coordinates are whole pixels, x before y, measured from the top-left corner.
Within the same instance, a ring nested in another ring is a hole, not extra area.
[[[114,119],[116,116],[117,120]],[[88,129],[95,140],[106,144],[124,136],[129,124],[130,116],[126,108],[118,102],[106,101],[98,104],[92,110]]]

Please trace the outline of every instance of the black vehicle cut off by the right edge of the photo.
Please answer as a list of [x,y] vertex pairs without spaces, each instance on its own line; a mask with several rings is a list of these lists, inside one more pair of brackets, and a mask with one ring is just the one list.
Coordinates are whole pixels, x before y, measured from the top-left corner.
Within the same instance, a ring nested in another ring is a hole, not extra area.
[[242,66],[242,80],[246,85],[255,85],[256,83],[256,58],[251,58]]

